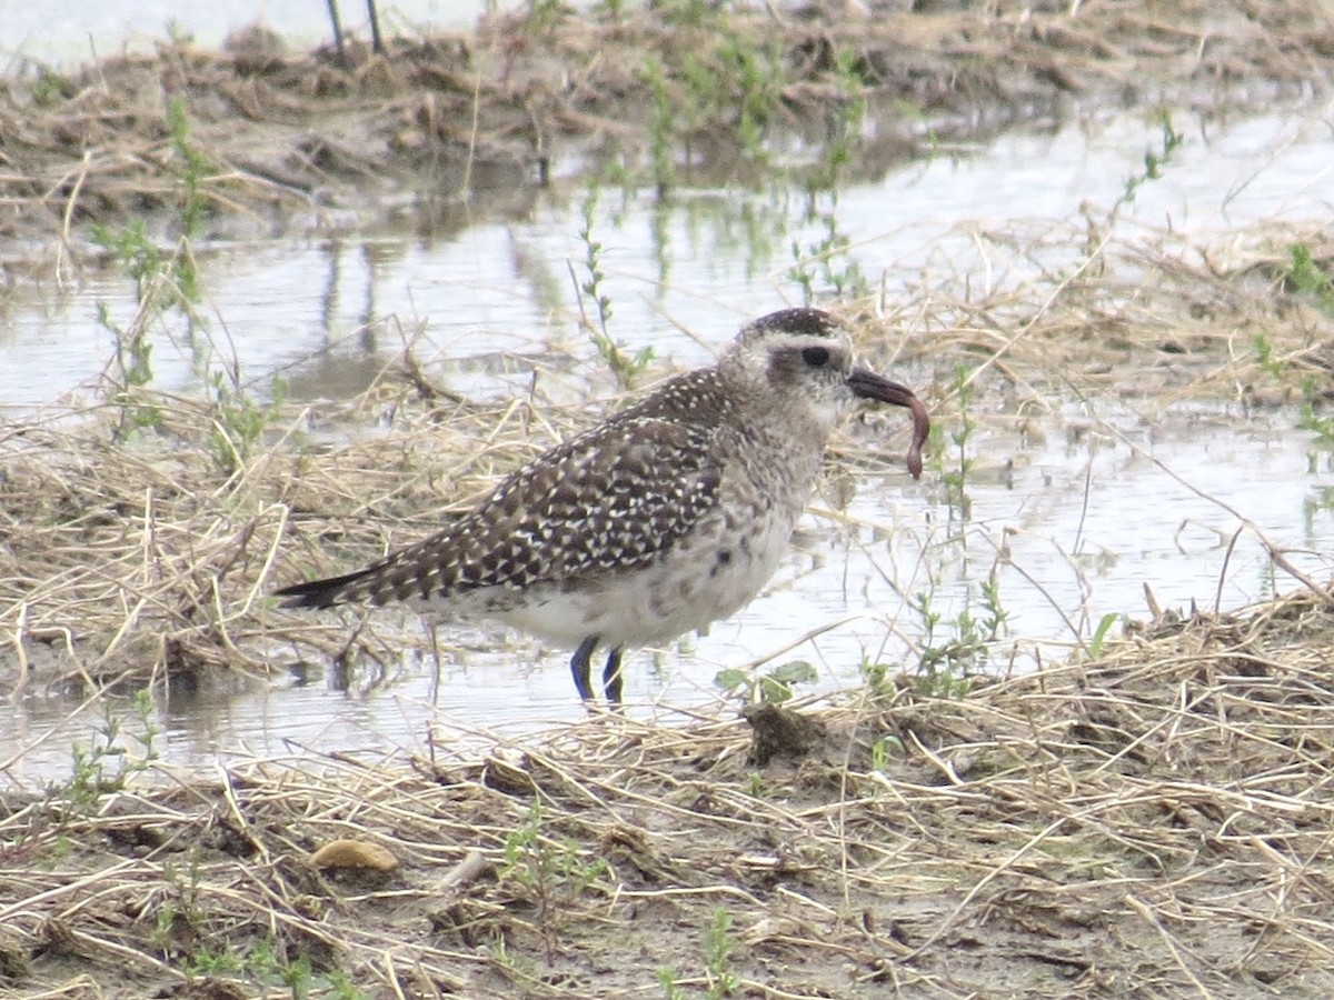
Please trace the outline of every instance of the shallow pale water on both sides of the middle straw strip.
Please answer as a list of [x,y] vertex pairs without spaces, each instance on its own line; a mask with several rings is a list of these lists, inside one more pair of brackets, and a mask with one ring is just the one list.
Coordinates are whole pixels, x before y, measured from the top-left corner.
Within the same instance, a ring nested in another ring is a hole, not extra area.
[[[1329,217],[1329,113],[1226,124],[1178,115],[1187,143],[1123,209],[1123,225],[1217,236],[1261,219]],[[1014,132],[854,185],[828,208],[851,239],[850,260],[891,300],[898,276],[932,268],[964,271],[978,283],[1013,280],[1013,271],[1037,264],[1017,255],[998,269],[995,251],[979,252],[976,235],[1042,232],[1077,219],[1083,203],[1105,211],[1142,169],[1142,151],[1157,135],[1139,115]],[[159,331],[159,384],[197,387],[201,364],[235,345],[260,391],[281,372],[297,399],[347,396],[392,361],[420,320],[418,357],[463,392],[527,392],[534,359],[555,395],[562,381],[571,392],[590,383],[604,389],[606,372],[571,320],[571,269],[582,280],[587,249],[578,237],[582,197],[558,189],[518,217],[447,237],[311,235],[208,247],[212,335],[191,341],[183,331]],[[795,199],[775,205],[727,192],[686,195],[678,211],[656,217],[647,200],[623,204],[604,192],[595,219],[615,336],[679,367],[708,360],[746,319],[800,301],[790,245],[820,236],[800,221]],[[776,231],[784,232],[774,237]],[[1071,259],[1077,251],[1069,249]],[[1066,251],[1043,252],[1047,268]],[[109,353],[95,321],[99,303],[125,317],[132,289],[89,273],[59,295],[49,287],[16,292],[0,315],[0,397],[9,407],[29,411],[91,393]],[[896,375],[908,383],[930,376]],[[1121,403],[1071,399],[1039,419],[1037,437],[984,429],[976,439],[966,523],[951,520],[938,473],[919,484],[900,467],[864,477],[847,516],[807,517],[798,551],[763,599],[684,651],[636,655],[631,711],[666,719],[707,708],[720,668],[768,657],[808,660],[820,688],[854,684],[863,659],[904,661],[916,645],[946,640],[960,611],[982,616],[980,584],[992,568],[1010,615],[992,668],[1011,656],[1017,668],[1065,656],[1105,615],[1146,616],[1145,584],[1163,608],[1227,609],[1275,585],[1291,589],[1293,580],[1275,580],[1261,536],[1303,572],[1326,576],[1334,471],[1294,425],[1286,411],[1254,415],[1197,401],[1142,417]],[[902,449],[902,433],[896,440]],[[1249,527],[1230,548],[1243,520]],[[930,639],[903,599],[919,593],[930,593],[942,616]],[[818,635],[800,641],[807,633]],[[447,643],[460,652],[439,673],[410,659],[374,687],[364,677],[344,688],[317,676],[172,692],[157,719],[161,749],[185,767],[303,747],[378,756],[424,751],[428,727],[450,744],[476,728],[520,735],[582,717],[564,655],[487,631],[451,628]],[[0,703],[0,732],[15,737],[0,743],[0,771],[24,783],[67,775],[71,743],[91,739],[105,708],[75,719],[72,711],[36,695]]]

